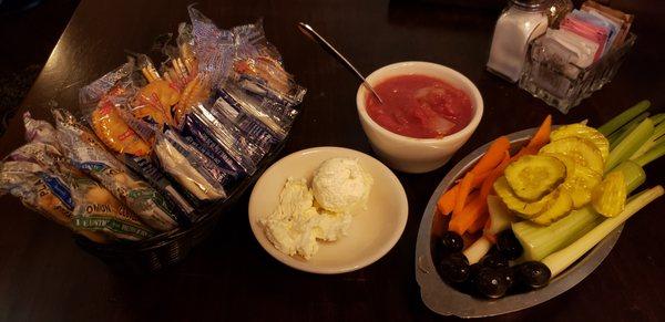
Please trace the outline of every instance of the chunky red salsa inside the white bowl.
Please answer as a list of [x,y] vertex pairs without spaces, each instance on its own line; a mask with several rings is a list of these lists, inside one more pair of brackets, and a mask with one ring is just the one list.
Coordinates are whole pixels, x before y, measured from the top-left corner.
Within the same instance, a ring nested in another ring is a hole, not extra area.
[[403,75],[390,77],[370,93],[367,113],[386,129],[416,138],[439,138],[467,126],[473,117],[471,98],[461,90],[434,77]]

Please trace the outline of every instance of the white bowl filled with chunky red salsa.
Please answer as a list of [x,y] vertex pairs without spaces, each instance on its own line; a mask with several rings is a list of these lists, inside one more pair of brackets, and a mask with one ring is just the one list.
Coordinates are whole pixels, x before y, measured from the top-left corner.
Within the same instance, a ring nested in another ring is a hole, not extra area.
[[383,102],[359,86],[356,105],[362,129],[379,158],[401,172],[443,166],[482,118],[475,85],[440,64],[395,63],[371,73],[367,82]]

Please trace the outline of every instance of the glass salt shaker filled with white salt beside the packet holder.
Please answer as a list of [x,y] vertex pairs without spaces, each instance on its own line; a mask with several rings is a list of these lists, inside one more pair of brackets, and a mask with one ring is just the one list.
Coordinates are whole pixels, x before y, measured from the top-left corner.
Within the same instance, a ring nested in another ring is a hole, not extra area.
[[492,38],[487,67],[511,82],[522,75],[529,43],[548,30],[550,0],[510,0]]

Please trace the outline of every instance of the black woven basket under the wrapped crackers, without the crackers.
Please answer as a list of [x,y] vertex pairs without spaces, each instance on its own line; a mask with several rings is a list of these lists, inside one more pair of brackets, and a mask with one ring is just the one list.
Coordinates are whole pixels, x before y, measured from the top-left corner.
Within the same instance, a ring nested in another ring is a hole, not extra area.
[[284,149],[287,139],[266,154],[258,164],[257,170],[252,176],[242,179],[228,195],[228,198],[208,206],[203,210],[203,217],[187,228],[177,228],[136,242],[104,245],[78,235],[74,237],[75,242],[83,250],[100,258],[117,272],[147,273],[173,266],[182,261],[190,253],[192,247],[213,232],[219,217],[275,162],[275,158]]

